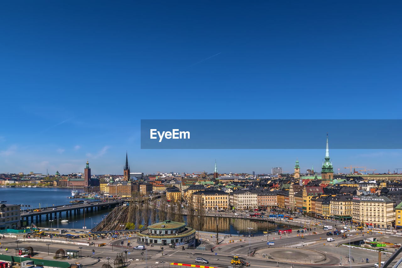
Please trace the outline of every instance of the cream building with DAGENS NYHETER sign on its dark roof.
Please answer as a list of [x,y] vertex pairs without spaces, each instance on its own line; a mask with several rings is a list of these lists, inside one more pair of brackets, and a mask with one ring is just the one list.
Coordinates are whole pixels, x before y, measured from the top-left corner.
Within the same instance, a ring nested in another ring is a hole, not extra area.
[[[387,228],[395,219],[394,201],[386,196],[353,196],[353,221],[363,226]],[[396,222],[400,221],[397,219]]]

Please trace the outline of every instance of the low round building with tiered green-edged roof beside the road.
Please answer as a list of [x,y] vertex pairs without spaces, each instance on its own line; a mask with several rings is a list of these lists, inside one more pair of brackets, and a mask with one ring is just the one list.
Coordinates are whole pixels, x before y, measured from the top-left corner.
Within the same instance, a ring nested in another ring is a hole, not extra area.
[[185,223],[163,221],[149,225],[147,229],[137,233],[137,242],[141,245],[195,245],[195,230]]

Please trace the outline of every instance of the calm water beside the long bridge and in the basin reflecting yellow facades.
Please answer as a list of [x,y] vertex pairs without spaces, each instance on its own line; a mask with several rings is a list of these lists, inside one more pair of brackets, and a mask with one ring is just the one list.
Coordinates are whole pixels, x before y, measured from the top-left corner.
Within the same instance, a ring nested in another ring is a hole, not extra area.
[[[70,204],[71,200],[67,198],[71,196],[71,189],[66,188],[1,188],[0,187],[0,200],[7,201],[8,204],[24,204],[31,205],[31,208],[41,208],[49,206],[60,206]],[[77,198],[75,198],[77,200]],[[87,199],[86,199],[87,200]],[[90,199],[93,200],[93,199]],[[96,223],[100,223],[103,217],[108,214],[111,210],[96,210],[93,212],[85,213],[85,225],[87,229],[91,229],[96,226]],[[43,221],[35,223],[40,227],[52,227],[57,228],[57,220],[53,222],[45,221],[45,216],[42,216]],[[68,223],[62,223],[61,220],[68,220]],[[186,216],[184,217],[185,221]],[[74,216],[66,216],[66,213],[62,213],[62,217],[59,219],[59,228],[74,228],[82,229],[84,226],[84,215],[77,214]],[[238,219],[238,218],[221,218],[221,217],[207,217],[206,223],[203,227],[203,231],[216,231],[216,224],[218,224],[219,233],[231,233],[237,234],[248,234],[249,229],[247,227],[252,227],[252,232],[254,234],[262,234],[267,231],[266,221],[256,221],[250,219]],[[277,225],[269,223],[269,231],[284,228],[283,225]]]

